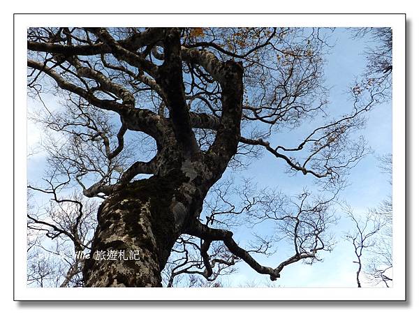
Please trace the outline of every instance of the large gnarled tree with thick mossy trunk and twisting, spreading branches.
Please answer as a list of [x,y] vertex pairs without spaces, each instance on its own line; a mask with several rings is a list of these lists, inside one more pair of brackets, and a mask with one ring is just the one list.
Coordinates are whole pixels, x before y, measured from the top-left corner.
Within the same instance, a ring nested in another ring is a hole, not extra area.
[[[75,250],[138,257],[84,260],[83,285],[155,287],[162,274],[170,286],[179,274],[214,281],[237,262],[274,281],[289,264],[314,262],[330,250],[332,204],[345,174],[367,154],[363,137],[352,135],[388,86],[372,80],[351,87],[351,109],[327,118],[323,63],[330,46],[322,31],[29,29],[29,95],[61,97],[59,109],[45,106],[34,117],[59,136],[51,133],[45,143],[49,186],[29,187],[57,203],[72,202],[63,195],[75,185],[84,197],[101,198],[91,245]],[[276,133],[310,120],[317,124],[295,146],[270,144]],[[328,195],[304,190],[288,197],[244,182],[241,206],[233,204],[219,179],[263,151],[318,179]],[[83,217],[85,207],[75,202]],[[230,227],[243,216],[253,224],[273,221],[279,233],[271,238],[288,239],[293,253],[277,267],[257,262],[253,253],[268,254],[272,239],[240,246]]]

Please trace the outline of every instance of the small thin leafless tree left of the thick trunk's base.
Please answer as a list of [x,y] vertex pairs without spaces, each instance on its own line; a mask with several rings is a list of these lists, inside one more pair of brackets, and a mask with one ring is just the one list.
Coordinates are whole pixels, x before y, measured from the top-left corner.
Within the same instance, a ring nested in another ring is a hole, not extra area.
[[84,260],[78,254],[91,253],[98,204],[80,194],[58,198],[57,189],[59,186],[41,190],[53,195],[46,207],[29,202],[28,283],[41,287],[80,287],[84,285]]

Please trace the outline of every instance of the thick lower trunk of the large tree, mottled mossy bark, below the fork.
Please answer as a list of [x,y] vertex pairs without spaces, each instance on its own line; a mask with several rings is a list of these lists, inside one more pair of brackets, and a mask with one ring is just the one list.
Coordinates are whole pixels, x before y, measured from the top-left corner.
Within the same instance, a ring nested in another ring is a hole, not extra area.
[[161,269],[182,229],[174,211],[179,184],[179,173],[135,181],[101,204],[84,264],[87,287],[161,286]]

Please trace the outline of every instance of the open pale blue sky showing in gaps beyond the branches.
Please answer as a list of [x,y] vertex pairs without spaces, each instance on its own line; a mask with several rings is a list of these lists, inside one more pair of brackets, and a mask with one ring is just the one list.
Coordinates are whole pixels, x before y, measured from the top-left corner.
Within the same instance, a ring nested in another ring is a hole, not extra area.
[[[351,86],[357,75],[360,75],[365,69],[366,60],[363,54],[367,41],[353,40],[350,38],[351,33],[346,29],[335,29],[332,33],[331,41],[335,42],[335,47],[328,55],[328,63],[325,66],[325,84],[330,87],[330,112],[341,112],[348,107],[351,108],[351,102],[348,101],[346,91]],[[48,106],[56,106],[57,100],[53,96],[44,98]],[[28,100],[29,111],[39,104]],[[307,130],[310,126],[307,126]],[[367,126],[362,130],[362,134],[372,147],[374,154],[362,159],[355,167],[348,181],[351,185],[341,192],[341,200],[345,200],[358,214],[364,213],[370,207],[376,207],[387,195],[391,193],[391,187],[388,184],[388,177],[381,173],[378,167],[376,156],[389,154],[392,151],[392,108],[391,104],[383,103],[369,112],[369,120]],[[270,140],[271,144],[282,144],[279,142],[281,137],[288,137],[287,140],[296,142],[300,140],[293,134],[281,133],[277,135],[278,142],[275,137]],[[31,122],[28,124],[28,146],[36,145],[41,138],[41,130],[34,126]],[[37,182],[45,170],[45,154],[41,151],[28,158],[28,180]],[[238,172],[237,177],[252,177],[260,186],[277,187],[284,193],[293,195],[300,193],[302,188],[314,188],[313,180],[309,176],[297,174],[290,177],[284,173],[286,163],[265,154],[263,158],[253,160],[253,163],[245,171]],[[45,197],[37,200],[43,202]],[[337,245],[331,253],[323,253],[323,262],[313,265],[302,263],[288,266],[282,271],[281,278],[277,281],[277,285],[284,287],[355,287],[355,267],[353,264],[353,251],[347,242],[343,241],[343,232],[351,228],[351,224],[341,215],[339,224],[335,227],[335,240]],[[245,234],[248,230],[242,232]],[[258,230],[255,230],[258,231]],[[237,232],[240,236],[240,232]],[[244,237],[245,239],[246,237]],[[243,238],[242,238],[243,239]],[[261,264],[276,267],[281,258],[284,259],[284,251],[281,249],[277,255],[271,257],[256,256]],[[232,274],[223,279],[231,286],[237,286],[246,282],[256,282],[263,285],[266,276],[256,274],[246,264],[240,263],[239,270],[236,274]]]

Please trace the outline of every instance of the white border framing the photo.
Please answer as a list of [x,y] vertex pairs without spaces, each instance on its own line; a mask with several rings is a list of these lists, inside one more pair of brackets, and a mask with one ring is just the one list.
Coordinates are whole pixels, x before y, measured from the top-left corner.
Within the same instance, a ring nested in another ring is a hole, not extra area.
[[[182,18],[179,18],[182,17]],[[391,288],[27,287],[27,29],[29,27],[391,27],[393,286]],[[14,15],[14,299],[17,301],[406,301],[405,14]],[[403,104],[403,105],[402,105]],[[397,108],[397,110],[395,110]]]

